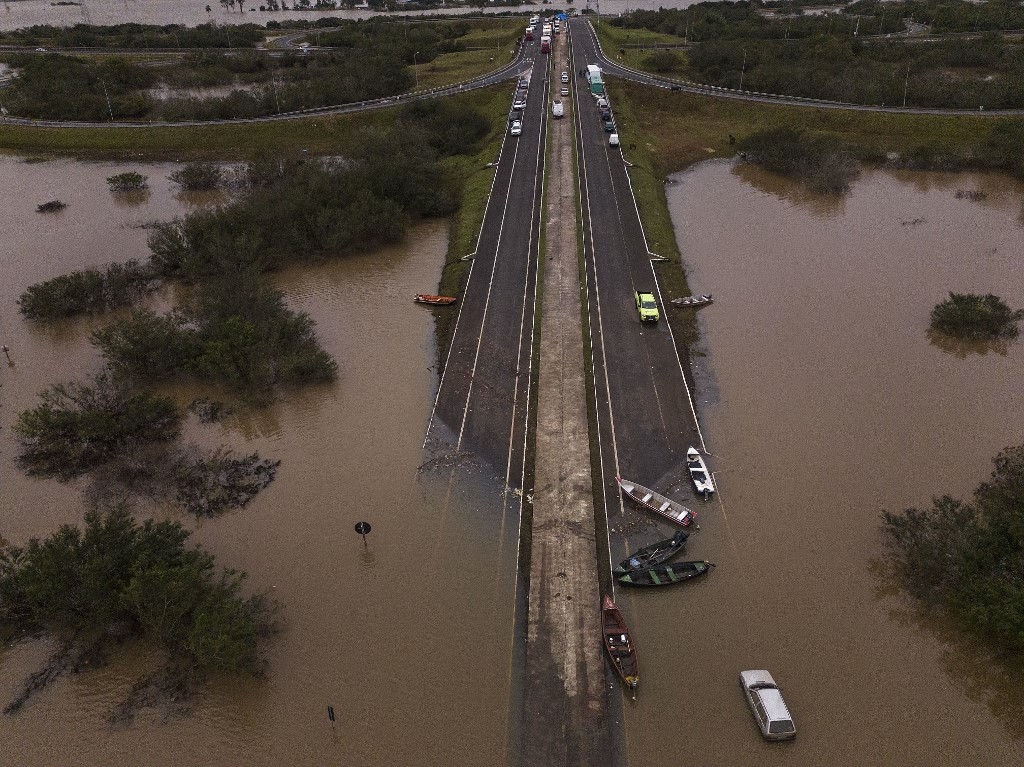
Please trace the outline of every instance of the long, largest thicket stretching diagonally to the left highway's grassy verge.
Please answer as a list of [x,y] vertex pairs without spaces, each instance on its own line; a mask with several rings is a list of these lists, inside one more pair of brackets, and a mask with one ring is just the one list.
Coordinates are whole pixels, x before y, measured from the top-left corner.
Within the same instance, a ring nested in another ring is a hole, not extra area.
[[398,242],[415,219],[455,211],[457,180],[440,157],[474,151],[488,128],[473,110],[415,104],[387,133],[366,134],[343,161],[254,162],[239,199],[157,227],[153,266],[196,282]]

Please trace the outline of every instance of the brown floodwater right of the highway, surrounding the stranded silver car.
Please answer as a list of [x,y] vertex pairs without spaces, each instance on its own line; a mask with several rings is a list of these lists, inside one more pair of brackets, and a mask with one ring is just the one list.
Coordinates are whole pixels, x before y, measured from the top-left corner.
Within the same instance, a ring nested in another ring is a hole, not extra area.
[[[1022,680],[894,591],[879,515],[970,495],[1024,440],[1024,345],[950,353],[926,333],[950,290],[1024,303],[1024,188],[866,172],[831,201],[711,162],[669,204],[691,287],[715,295],[695,367],[720,495],[686,558],[718,567],[620,592],[644,672],[630,763],[1020,764]],[[764,742],[741,697],[760,668],[792,743]]]

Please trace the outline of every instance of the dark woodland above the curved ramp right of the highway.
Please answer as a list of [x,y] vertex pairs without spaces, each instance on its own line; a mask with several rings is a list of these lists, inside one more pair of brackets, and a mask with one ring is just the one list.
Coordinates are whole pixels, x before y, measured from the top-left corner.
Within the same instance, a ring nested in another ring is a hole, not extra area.
[[[976,13],[988,22],[974,24]],[[687,38],[685,62],[654,54],[646,66],[711,85],[865,104],[1024,108],[1024,45],[994,34],[970,43],[865,39],[902,31],[904,16],[943,32],[1024,28],[1020,6],[866,1],[788,18],[766,18],[751,3],[702,3],[610,23]]]

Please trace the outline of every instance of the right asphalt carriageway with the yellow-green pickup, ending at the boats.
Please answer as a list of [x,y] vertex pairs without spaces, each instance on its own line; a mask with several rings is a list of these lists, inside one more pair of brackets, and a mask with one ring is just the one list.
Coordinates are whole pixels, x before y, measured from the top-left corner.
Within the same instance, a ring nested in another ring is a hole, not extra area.
[[[626,509],[616,476],[680,498],[680,491],[690,489],[686,450],[701,449],[702,439],[623,154],[608,145],[580,74],[600,60],[595,38],[585,19],[571,19],[569,30],[603,488],[595,503],[603,505],[609,528],[622,529]],[[636,290],[654,294],[660,322],[641,325]],[[699,506],[689,505],[699,513]]]

